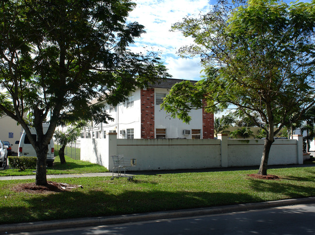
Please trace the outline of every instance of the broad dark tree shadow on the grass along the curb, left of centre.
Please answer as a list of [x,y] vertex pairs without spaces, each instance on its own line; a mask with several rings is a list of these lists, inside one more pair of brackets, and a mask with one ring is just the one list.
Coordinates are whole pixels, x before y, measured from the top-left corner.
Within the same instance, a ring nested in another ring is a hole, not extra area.
[[260,201],[242,193],[125,190],[115,195],[106,190],[80,190],[83,189],[48,195],[26,193],[25,207],[1,206],[0,223],[115,216]]

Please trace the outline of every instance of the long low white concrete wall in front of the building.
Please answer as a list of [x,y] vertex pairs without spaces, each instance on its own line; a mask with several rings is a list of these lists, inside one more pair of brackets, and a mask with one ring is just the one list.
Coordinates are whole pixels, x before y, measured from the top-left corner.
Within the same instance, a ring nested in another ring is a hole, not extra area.
[[[227,139],[117,139],[108,133],[106,139],[82,139],[81,160],[105,166],[111,171],[111,155],[136,159],[129,171],[202,169],[260,164],[264,140]],[[293,140],[275,140],[271,146],[268,165],[303,164],[302,136]]]

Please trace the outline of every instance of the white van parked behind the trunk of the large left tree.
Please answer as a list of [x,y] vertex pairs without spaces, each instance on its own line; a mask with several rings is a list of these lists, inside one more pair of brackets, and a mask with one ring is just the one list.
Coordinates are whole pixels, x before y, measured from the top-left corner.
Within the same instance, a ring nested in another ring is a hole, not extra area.
[[[48,129],[48,125],[43,124],[44,134],[47,132],[47,129]],[[37,139],[35,128],[31,127],[30,131],[31,131],[31,135],[33,136],[33,138]],[[50,143],[48,144],[48,153],[47,153],[47,165],[48,165],[48,167],[52,167],[53,162],[55,160],[54,150],[55,150],[54,141],[51,138]],[[21,139],[20,139],[19,144],[18,144],[18,156],[19,157],[21,157],[21,156],[35,156],[36,157],[35,149],[31,145],[31,142],[30,142],[29,138],[27,137],[25,130],[23,130],[23,133],[21,135]]]

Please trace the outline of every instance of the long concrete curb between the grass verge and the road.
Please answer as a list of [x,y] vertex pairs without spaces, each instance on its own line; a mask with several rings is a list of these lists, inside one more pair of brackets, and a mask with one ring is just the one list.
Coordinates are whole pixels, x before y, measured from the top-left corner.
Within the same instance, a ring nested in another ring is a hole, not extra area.
[[254,209],[264,209],[264,208],[271,208],[271,207],[296,205],[296,204],[309,204],[309,203],[315,203],[315,197],[286,199],[286,200],[270,201],[270,202],[263,202],[263,203],[249,203],[249,204],[205,207],[205,208],[189,209],[189,210],[131,214],[131,215],[121,215],[121,216],[113,216],[113,217],[108,216],[108,217],[96,217],[96,218],[62,219],[62,220],[51,220],[51,221],[41,221],[41,222],[5,224],[5,225],[0,225],[0,233],[7,234],[7,233],[16,233],[16,232],[30,232],[30,231],[39,231],[39,230],[110,225],[110,224],[137,222],[137,221],[146,221],[146,220],[155,220],[155,219],[171,219],[171,218],[183,218],[183,217],[190,217],[190,216],[204,216],[204,215],[212,215],[212,214],[239,212],[239,211],[247,211],[247,210],[254,210]]

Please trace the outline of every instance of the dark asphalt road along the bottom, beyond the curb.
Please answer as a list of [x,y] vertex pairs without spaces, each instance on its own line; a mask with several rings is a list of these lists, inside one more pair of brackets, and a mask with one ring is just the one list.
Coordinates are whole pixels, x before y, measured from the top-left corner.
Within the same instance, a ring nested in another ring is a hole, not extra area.
[[315,204],[20,235],[314,235]]

